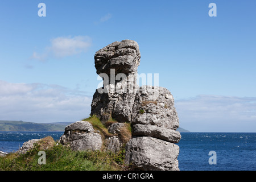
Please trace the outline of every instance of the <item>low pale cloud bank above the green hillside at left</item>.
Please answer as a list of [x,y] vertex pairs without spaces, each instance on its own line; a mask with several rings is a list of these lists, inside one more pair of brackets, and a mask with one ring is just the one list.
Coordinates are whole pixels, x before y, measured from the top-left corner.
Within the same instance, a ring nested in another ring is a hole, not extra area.
[[92,97],[58,85],[0,80],[0,120],[75,122],[90,114]]

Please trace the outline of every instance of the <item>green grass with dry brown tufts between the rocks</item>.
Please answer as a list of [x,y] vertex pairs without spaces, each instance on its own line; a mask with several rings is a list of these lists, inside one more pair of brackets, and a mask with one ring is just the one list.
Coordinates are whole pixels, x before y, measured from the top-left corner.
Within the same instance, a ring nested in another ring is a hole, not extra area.
[[[46,137],[34,144],[26,154],[10,153],[0,158],[0,171],[120,171],[130,169],[123,164],[125,143],[131,138],[131,125],[125,123],[118,134],[109,133],[106,126],[117,122],[114,119],[105,125],[95,115],[83,119],[90,122],[94,130],[100,131],[103,139],[118,135],[123,147],[118,152],[112,151],[73,151],[69,146],[56,145],[52,137]],[[46,152],[46,164],[38,164],[39,151]]]

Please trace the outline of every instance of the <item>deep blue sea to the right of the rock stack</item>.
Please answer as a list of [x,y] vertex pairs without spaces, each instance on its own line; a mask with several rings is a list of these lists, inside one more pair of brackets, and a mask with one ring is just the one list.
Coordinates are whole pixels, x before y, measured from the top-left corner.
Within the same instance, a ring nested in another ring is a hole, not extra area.
[[180,171],[256,170],[256,133],[181,133],[178,145]]

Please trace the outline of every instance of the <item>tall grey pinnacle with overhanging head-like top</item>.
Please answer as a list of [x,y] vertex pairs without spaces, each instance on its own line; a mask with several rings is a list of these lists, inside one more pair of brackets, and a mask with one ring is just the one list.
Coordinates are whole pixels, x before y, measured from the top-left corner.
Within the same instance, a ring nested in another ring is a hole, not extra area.
[[114,42],[96,52],[95,68],[104,78],[105,92],[97,89],[94,93],[91,115],[97,115],[102,122],[110,117],[118,122],[131,121],[140,59],[138,43],[133,40]]

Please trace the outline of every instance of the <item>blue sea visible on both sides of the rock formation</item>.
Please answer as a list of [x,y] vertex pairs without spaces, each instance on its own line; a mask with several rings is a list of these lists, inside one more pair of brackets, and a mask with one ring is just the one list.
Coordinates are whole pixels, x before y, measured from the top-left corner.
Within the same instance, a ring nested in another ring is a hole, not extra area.
[[[63,132],[1,132],[0,151],[19,150],[24,142]],[[256,171],[256,133],[182,133],[178,143],[180,171]],[[210,161],[210,151],[214,159]]]

